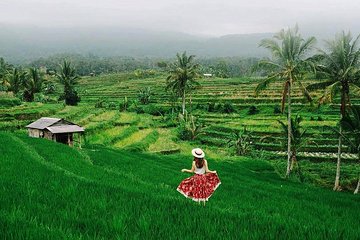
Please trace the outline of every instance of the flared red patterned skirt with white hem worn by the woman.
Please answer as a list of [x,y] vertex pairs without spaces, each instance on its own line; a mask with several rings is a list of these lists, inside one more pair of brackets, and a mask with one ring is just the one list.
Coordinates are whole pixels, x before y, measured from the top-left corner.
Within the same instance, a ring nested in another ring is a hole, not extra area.
[[184,179],[177,190],[196,202],[208,201],[220,183],[216,173],[195,174]]

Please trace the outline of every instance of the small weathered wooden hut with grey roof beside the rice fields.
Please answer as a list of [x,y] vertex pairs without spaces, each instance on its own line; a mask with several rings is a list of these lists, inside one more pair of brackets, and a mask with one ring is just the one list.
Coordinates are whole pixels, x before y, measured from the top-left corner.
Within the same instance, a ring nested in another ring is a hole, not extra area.
[[26,126],[30,137],[46,138],[55,142],[74,145],[74,134],[79,134],[81,146],[81,135],[84,128],[61,118],[43,117]]

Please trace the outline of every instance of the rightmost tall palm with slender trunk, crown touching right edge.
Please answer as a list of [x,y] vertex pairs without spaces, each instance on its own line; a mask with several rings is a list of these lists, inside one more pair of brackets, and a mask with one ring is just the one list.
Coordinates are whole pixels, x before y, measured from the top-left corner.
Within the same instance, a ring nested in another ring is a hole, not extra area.
[[[307,87],[308,90],[325,89],[319,103],[333,102],[336,95],[340,94],[340,118],[346,114],[346,109],[351,105],[350,90],[360,90],[360,35],[353,39],[350,33],[342,32],[335,39],[326,42],[327,51],[320,50],[317,56],[319,64],[316,69],[326,77],[326,81],[314,83]],[[340,164],[342,146],[342,128],[340,125],[338,144],[338,157],[334,190],[340,190]]]

